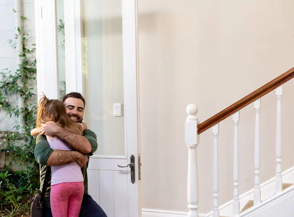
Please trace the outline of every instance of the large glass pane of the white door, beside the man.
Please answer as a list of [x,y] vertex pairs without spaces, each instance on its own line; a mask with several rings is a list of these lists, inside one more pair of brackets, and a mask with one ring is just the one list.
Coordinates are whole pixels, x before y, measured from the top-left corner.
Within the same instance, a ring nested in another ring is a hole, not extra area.
[[97,134],[96,155],[124,156],[123,108],[113,115],[124,102],[122,0],[84,0],[82,8],[85,121]]

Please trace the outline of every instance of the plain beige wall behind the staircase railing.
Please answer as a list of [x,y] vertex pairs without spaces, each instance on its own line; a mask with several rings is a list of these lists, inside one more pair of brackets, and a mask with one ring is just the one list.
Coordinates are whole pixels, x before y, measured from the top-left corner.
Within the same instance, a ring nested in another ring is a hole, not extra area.
[[[294,67],[293,0],[140,0],[142,206],[187,211],[186,106],[205,121]],[[282,169],[294,165],[294,81],[282,99]],[[274,92],[262,98],[261,183],[275,175]],[[253,188],[254,110],[240,117],[240,194]],[[200,136],[199,212],[212,210],[213,137]],[[220,204],[233,195],[233,123],[221,122]]]

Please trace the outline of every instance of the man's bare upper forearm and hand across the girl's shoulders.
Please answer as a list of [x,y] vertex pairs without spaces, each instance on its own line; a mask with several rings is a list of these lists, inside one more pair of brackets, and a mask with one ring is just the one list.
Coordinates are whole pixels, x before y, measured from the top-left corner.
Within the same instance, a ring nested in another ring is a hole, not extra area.
[[57,136],[79,152],[84,154],[92,152],[92,146],[86,137],[65,130],[53,121],[49,121],[44,125],[44,131],[46,135]]

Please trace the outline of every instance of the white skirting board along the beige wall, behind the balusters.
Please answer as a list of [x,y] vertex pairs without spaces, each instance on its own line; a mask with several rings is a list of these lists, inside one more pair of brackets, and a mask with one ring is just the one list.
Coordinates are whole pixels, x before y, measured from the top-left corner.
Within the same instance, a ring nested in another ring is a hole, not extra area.
[[[294,184],[294,167],[284,171],[282,173],[284,183],[293,183]],[[252,181],[253,186],[253,181]],[[294,185],[284,190],[282,193],[274,195],[275,193],[275,177],[270,180],[262,183],[261,188],[261,204],[256,206],[255,209],[249,209],[243,212],[240,217],[246,217],[249,215],[256,214],[268,206],[280,201],[283,198],[286,198],[294,194]],[[242,209],[248,200],[253,200],[253,190],[250,190],[242,195],[240,195],[240,208]],[[213,199],[213,198],[212,198]],[[220,206],[220,216],[232,216],[232,206],[233,200]],[[187,217],[188,212],[176,212],[176,211],[166,211],[166,210],[154,210],[154,209],[142,209],[142,217]],[[208,214],[199,214],[199,217],[212,217],[212,212]]]

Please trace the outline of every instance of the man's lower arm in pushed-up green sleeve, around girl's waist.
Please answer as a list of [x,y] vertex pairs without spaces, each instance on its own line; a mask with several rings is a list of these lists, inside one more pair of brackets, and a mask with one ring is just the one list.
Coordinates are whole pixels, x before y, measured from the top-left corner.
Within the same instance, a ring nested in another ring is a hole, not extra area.
[[88,161],[86,155],[77,151],[53,150],[45,136],[38,135],[34,149],[35,159],[39,164],[48,166],[65,165],[77,161],[84,167]]

